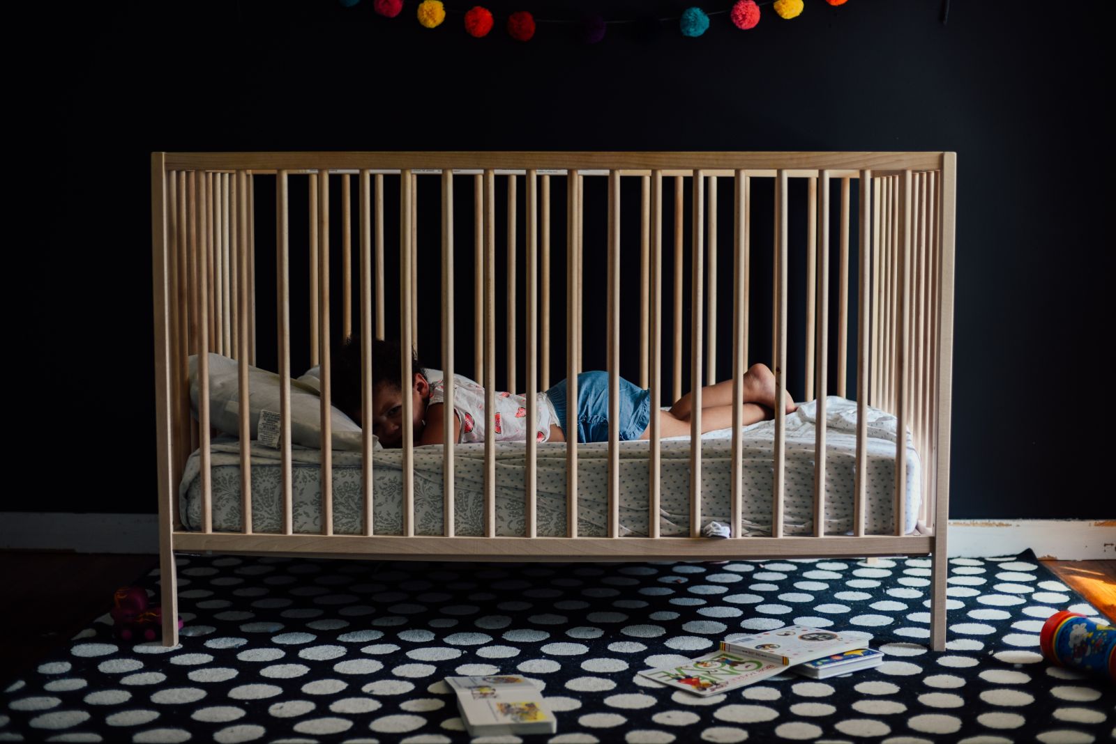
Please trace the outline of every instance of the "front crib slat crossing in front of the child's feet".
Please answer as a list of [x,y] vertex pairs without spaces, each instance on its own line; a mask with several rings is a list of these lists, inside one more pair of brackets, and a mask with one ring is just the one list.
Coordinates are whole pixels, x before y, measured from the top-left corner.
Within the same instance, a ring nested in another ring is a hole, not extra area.
[[771,537],[782,537],[782,505],[787,479],[787,172],[776,177],[776,355],[775,355],[775,493],[771,503]]

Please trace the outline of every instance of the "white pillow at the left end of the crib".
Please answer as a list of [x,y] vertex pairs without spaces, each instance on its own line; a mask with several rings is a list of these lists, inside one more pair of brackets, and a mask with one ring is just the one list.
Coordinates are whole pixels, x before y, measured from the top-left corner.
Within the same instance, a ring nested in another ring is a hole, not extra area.
[[[201,389],[198,381],[198,355],[190,356],[190,403],[194,417],[198,417],[198,403]],[[233,437],[240,435],[240,380],[237,360],[210,352],[210,423],[214,428]],[[306,375],[302,375],[306,376]],[[290,385],[290,439],[295,444],[321,449],[321,399],[318,398],[317,385],[308,385],[299,380],[292,380]],[[316,380],[315,380],[316,382]],[[252,439],[256,439],[260,411],[279,413],[280,379],[275,372],[248,366],[248,394],[251,418],[249,425]],[[331,407],[333,449],[360,451],[364,449],[364,433],[353,419],[337,408]],[[372,432],[373,449],[381,450],[383,444]]]

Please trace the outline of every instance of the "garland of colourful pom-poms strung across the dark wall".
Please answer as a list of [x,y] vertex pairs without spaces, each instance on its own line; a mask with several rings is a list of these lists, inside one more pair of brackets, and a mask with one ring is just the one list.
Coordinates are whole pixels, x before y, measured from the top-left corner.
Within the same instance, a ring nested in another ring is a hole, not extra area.
[[[352,8],[360,0],[338,0],[338,2],[346,8]],[[829,6],[843,6],[847,2],[847,0],[825,1]],[[403,11],[403,0],[373,0],[372,6],[373,10],[387,18],[395,18]],[[529,41],[535,36],[536,27],[539,23],[567,26],[576,25],[578,36],[583,41],[586,43],[597,43],[605,38],[605,30],[612,25],[638,23],[646,27],[648,25],[661,25],[664,22],[676,21],[679,25],[679,31],[682,36],[695,38],[700,37],[709,29],[710,16],[728,14],[729,20],[731,20],[733,26],[738,29],[744,31],[753,29],[760,22],[760,8],[763,6],[771,6],[776,14],[783,20],[797,18],[805,8],[804,0],[764,0],[763,2],[757,2],[757,0],[737,0],[731,8],[714,10],[711,12],[705,12],[695,6],[686,8],[682,16],[667,18],[644,17],[616,20],[605,20],[599,13],[587,13],[578,20],[548,18],[538,19],[530,12],[520,10],[508,17],[507,29],[508,35],[511,38],[518,41]],[[949,11],[946,10],[946,12]],[[482,6],[475,6],[468,11],[462,11],[448,9],[442,0],[422,0],[419,3],[416,11],[419,22],[429,29],[441,26],[445,21],[446,13],[463,13],[465,31],[470,36],[478,39],[488,36],[496,26],[496,19],[492,16],[492,11]]]

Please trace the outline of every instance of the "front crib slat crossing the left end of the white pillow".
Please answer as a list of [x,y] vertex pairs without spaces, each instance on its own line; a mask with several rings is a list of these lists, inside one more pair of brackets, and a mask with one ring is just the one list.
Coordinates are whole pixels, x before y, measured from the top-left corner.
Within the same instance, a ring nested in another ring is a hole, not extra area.
[[202,531],[213,531],[213,473],[210,451],[210,389],[209,389],[209,287],[205,282],[205,174],[191,173],[190,205],[193,221],[190,224],[190,249],[194,262],[194,300],[198,319],[198,433],[202,452]]

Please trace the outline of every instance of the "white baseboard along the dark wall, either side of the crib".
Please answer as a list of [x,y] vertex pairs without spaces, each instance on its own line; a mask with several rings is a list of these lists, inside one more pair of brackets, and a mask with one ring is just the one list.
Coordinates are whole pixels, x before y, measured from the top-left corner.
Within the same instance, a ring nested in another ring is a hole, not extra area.
[[[1027,548],[1056,560],[1116,559],[1116,520],[951,519],[951,558],[1012,556]],[[0,512],[0,549],[158,552],[156,515]]]

